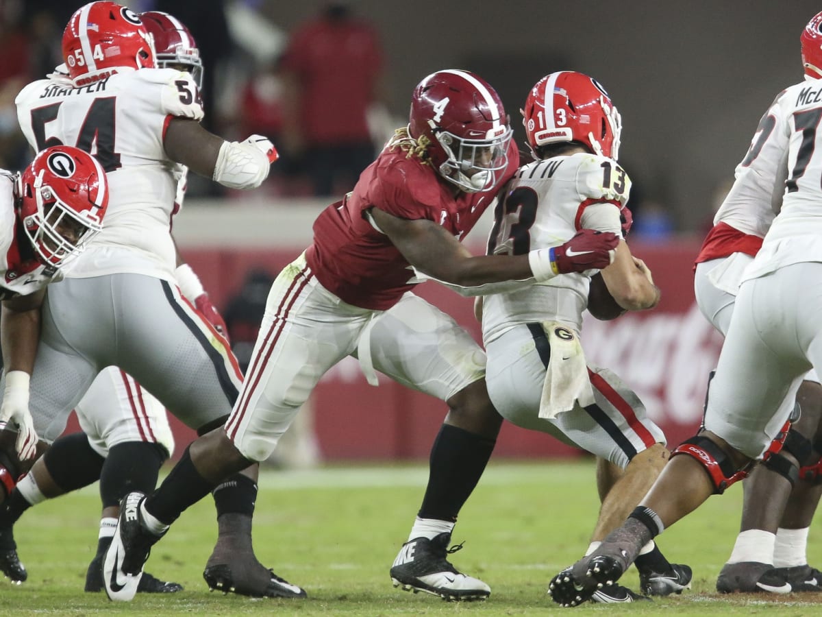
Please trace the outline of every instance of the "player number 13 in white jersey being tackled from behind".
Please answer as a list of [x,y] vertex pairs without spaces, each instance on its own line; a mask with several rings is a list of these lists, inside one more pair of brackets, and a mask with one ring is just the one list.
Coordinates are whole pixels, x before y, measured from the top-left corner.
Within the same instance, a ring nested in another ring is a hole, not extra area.
[[[520,167],[497,204],[488,253],[548,248],[584,228],[621,234],[630,179],[617,163],[620,116],[602,86],[579,72],[552,73],[530,90],[523,113],[536,160]],[[500,414],[624,470],[612,485],[599,487],[605,497],[590,550],[635,507],[668,456],[662,430],[635,393],[610,370],[584,359],[579,336],[593,272],[479,300],[488,393]],[[648,267],[624,239],[602,277],[622,308],[658,303]],[[640,580],[646,593],[678,592],[690,583],[690,568],[669,564],[652,543],[640,559]],[[640,597],[614,585],[593,600]]]

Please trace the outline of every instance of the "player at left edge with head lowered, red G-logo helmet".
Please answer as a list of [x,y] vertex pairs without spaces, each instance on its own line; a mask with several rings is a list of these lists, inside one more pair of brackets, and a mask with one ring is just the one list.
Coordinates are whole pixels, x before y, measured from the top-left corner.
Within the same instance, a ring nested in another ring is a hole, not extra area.
[[[39,454],[28,401],[45,287],[62,280],[60,268],[99,233],[108,204],[103,168],[72,146],[45,149],[22,174],[0,170],[0,340],[6,377],[0,426],[16,428],[16,452],[0,449],[2,494],[12,491]],[[0,536],[0,569],[19,582],[15,574],[25,578],[25,569],[15,549],[13,538]]]

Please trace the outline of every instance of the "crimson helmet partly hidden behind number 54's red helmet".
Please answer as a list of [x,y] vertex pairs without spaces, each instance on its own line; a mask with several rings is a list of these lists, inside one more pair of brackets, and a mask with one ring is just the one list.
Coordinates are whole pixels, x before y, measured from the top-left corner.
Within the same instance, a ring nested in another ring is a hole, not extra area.
[[202,86],[203,65],[200,49],[192,33],[177,17],[162,11],[146,11],[140,19],[154,39],[155,58],[159,68],[182,68],[190,72],[196,85]]

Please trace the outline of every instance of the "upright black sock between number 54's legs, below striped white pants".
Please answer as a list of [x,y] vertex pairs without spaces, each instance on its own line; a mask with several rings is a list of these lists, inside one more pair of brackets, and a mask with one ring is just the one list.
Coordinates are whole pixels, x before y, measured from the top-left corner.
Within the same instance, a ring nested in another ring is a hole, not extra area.
[[109,449],[99,476],[103,507],[118,506],[120,500],[133,490],[153,491],[159,468],[167,457],[165,448],[157,443],[132,441],[118,443]]

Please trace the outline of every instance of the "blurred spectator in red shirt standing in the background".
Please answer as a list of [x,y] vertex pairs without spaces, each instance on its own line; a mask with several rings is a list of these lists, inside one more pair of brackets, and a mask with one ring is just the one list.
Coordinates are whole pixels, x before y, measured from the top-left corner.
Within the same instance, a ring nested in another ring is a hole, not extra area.
[[376,31],[348,5],[331,2],[293,32],[281,68],[282,150],[303,156],[315,195],[344,193],[376,155],[368,125],[381,98]]

